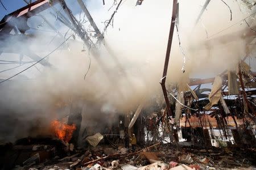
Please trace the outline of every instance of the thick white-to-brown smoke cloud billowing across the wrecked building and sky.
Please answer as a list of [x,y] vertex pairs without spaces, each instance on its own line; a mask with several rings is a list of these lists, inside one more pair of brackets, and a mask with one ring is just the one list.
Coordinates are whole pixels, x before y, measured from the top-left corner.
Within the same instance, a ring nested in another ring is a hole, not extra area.
[[[55,5],[56,11],[48,8],[27,20],[30,29],[23,35],[26,39],[5,39],[3,43],[10,53],[3,52],[1,59],[22,62],[1,65],[2,80],[47,57],[0,83],[2,142],[48,134],[51,122],[66,118],[74,101],[82,108],[81,129],[100,122],[112,124],[118,121],[119,114],[134,112],[139,104],[147,104],[153,98],[164,102],[159,82],[166,57],[172,1],[144,0],[137,6],[135,0],[123,1],[106,30],[117,7],[113,3],[118,2],[105,0],[102,5],[100,0],[84,1],[103,33],[100,42],[77,1],[65,2],[95,45],[86,45],[76,32],[57,19],[61,17],[58,12],[68,18],[59,4]],[[236,70],[238,62],[246,56],[255,71],[254,45],[246,45],[250,40],[245,36],[254,26],[251,25],[254,15],[246,19],[250,27],[243,20],[255,10],[240,1],[226,1],[232,10],[230,20],[229,7],[222,1],[211,1],[196,22],[204,3],[179,1],[167,87],[187,84],[189,78],[213,78],[226,69]],[[11,24],[19,22],[14,20]],[[15,35],[15,30],[12,33]],[[11,70],[2,72],[6,69]],[[101,129],[104,127],[98,126],[94,131]]]

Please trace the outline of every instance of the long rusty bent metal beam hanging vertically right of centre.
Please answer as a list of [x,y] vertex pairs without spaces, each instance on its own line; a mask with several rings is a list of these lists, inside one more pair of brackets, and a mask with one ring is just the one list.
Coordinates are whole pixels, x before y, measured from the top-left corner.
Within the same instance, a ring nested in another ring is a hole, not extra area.
[[[169,32],[169,37],[168,37],[168,44],[167,44],[167,50],[166,50],[166,59],[164,61],[163,76],[162,76],[162,79],[160,81],[160,84],[161,84],[162,89],[163,89],[164,100],[166,101],[167,113],[168,113],[169,116],[172,115],[172,111],[171,111],[171,105],[170,105],[170,101],[168,99],[168,95],[167,95],[167,91],[166,91],[166,76],[167,76],[167,70],[168,70],[168,63],[169,63],[169,59],[170,59],[170,52],[171,52],[171,46],[172,46],[172,37],[174,35],[174,26],[175,26],[175,20],[176,20],[176,13],[177,13],[177,0],[174,0],[174,3],[172,5],[172,20],[171,20],[171,28],[170,28],[170,32]],[[174,116],[174,115],[172,115],[172,116]]]

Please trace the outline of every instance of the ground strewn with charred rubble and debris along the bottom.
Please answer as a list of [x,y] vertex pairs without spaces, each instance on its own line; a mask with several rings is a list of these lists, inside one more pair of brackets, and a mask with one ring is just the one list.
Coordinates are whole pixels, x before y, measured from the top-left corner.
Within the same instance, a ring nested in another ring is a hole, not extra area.
[[[24,142],[26,141],[26,142]],[[44,141],[44,142],[42,142]],[[249,147],[200,149],[156,143],[73,148],[59,139],[21,139],[2,145],[1,169],[255,169],[256,150]]]

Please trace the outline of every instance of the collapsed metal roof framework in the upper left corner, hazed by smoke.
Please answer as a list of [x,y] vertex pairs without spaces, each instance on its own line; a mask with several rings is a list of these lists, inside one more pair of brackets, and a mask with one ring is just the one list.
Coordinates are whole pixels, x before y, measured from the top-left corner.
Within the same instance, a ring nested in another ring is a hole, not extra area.
[[[27,1],[25,1],[25,2],[28,3]],[[103,36],[102,36],[100,30],[97,28],[97,25],[94,23],[92,16],[90,16],[89,11],[87,10],[84,3],[79,0],[77,0],[77,2],[79,2],[79,5],[81,6],[82,10],[85,12],[85,15],[87,16],[87,18],[90,21],[90,24],[92,24],[92,27],[93,27],[94,31],[96,32],[98,39],[102,39]],[[1,37],[0,54],[2,52],[20,53],[20,52],[15,52],[13,50],[13,48],[11,48],[11,49],[8,48],[7,44],[5,43],[5,40],[10,40],[10,38],[11,39],[18,38],[19,40],[20,39],[29,40],[29,38],[27,36],[23,36],[23,34],[28,29],[30,29],[30,27],[28,27],[28,25],[27,25],[27,19],[34,15],[39,15],[49,25],[49,27],[53,29],[53,31],[55,31],[60,37],[64,38],[64,36],[61,35],[61,33],[59,31],[57,31],[57,29],[50,22],[48,22],[48,20],[43,15],[39,14],[40,12],[46,10],[47,8],[52,8],[53,10],[55,10],[57,12],[56,8],[53,7],[57,3],[61,3],[61,5],[64,8],[64,11],[67,13],[67,15],[69,17],[69,20],[66,19],[65,16],[62,15],[61,13],[59,13],[57,15],[57,19],[59,19],[60,22],[65,24],[67,27],[71,28],[84,41],[86,46],[88,46],[88,48],[92,48],[92,52],[94,54],[96,54],[96,56],[98,56],[96,46],[93,44],[92,40],[90,40],[88,33],[85,31],[85,29],[82,29],[80,22],[75,18],[75,16],[72,15],[71,10],[69,10],[68,6],[65,4],[65,1],[63,1],[63,0],[53,1],[53,3],[51,3],[51,4],[49,4],[49,2],[47,0],[35,1],[33,3],[28,3],[27,6],[22,7],[16,11],[12,12],[11,14],[6,15],[0,22],[0,37]],[[16,19],[18,19],[19,22],[15,22]],[[11,35],[10,34],[11,30],[13,30],[13,29],[16,30],[16,28],[18,28],[18,30],[20,31],[20,33],[22,33],[22,35],[18,35],[18,34]],[[25,51],[25,48],[26,47],[24,47],[24,51]],[[28,57],[34,59],[35,61],[42,59],[32,52],[30,54],[26,54],[26,55]],[[48,61],[42,61],[40,63],[44,66],[52,66]]]

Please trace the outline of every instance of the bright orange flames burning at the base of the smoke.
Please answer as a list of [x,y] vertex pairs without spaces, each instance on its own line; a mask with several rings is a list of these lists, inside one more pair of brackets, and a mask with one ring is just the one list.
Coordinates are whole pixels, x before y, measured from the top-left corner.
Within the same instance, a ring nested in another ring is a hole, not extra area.
[[51,122],[51,129],[55,133],[56,137],[65,142],[69,142],[72,138],[73,131],[76,130],[76,125],[67,125],[63,122],[55,120]]

